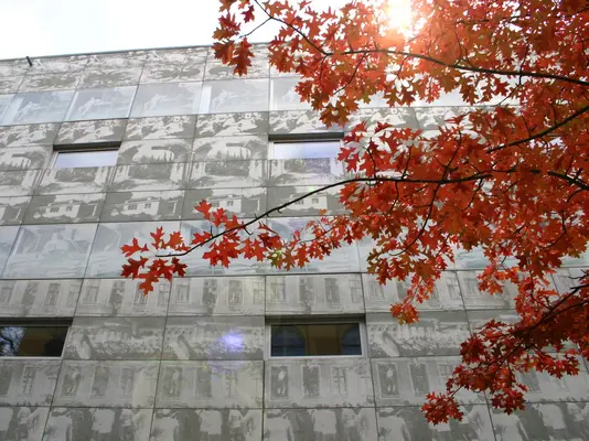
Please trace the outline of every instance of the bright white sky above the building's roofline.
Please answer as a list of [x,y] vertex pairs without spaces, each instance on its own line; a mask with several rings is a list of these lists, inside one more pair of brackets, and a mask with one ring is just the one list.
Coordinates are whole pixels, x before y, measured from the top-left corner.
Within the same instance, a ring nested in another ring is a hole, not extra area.
[[[342,2],[313,0],[313,6]],[[0,58],[210,44],[218,4],[217,0],[0,0]],[[251,40],[269,41],[274,32],[276,26],[265,25]]]

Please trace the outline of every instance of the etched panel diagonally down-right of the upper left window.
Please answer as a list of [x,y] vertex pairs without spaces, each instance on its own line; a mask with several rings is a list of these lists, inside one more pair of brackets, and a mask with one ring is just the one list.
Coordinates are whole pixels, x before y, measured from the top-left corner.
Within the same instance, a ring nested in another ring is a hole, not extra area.
[[184,178],[183,163],[118,165],[110,192],[179,190]]

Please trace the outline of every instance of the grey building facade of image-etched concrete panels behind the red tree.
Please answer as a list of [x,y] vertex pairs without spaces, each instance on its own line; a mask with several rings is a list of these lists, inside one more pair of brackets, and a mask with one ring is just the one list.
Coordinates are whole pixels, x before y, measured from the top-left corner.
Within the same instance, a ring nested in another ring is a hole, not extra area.
[[[528,374],[523,412],[464,392],[462,422],[420,413],[470,332],[514,316],[513,287],[479,291],[478,251],[458,254],[411,326],[388,312],[407,282],[367,275],[367,243],[288,273],[195,251],[148,297],[120,278],[132,237],[208,229],[203,198],[248,218],[345,178],[331,141],[349,128],[323,127],[255,52],[247,78],[207,47],[0,62],[0,440],[589,440],[585,362],[577,377]],[[461,106],[447,99],[375,99],[351,125],[436,130]],[[336,191],[269,224],[288,234],[321,209],[342,213]],[[554,284],[587,266],[568,260]]]

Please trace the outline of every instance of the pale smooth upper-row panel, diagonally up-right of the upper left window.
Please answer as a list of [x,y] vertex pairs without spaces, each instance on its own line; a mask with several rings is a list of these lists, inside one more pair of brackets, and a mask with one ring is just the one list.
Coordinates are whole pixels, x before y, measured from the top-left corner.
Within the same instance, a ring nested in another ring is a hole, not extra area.
[[202,83],[142,84],[131,117],[193,115],[199,110]]

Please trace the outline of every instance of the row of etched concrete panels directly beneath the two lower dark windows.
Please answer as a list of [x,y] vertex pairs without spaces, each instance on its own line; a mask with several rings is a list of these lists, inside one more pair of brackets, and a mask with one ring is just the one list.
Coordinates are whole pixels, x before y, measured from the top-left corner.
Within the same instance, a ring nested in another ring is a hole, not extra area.
[[[116,332],[116,331],[113,331]],[[116,344],[111,342],[111,344]],[[268,361],[0,361],[0,406],[323,408],[421,406],[460,357]],[[528,373],[527,402],[589,401],[589,375]],[[462,405],[485,404],[461,390]]]

